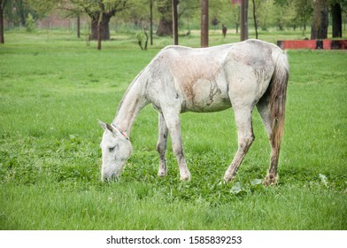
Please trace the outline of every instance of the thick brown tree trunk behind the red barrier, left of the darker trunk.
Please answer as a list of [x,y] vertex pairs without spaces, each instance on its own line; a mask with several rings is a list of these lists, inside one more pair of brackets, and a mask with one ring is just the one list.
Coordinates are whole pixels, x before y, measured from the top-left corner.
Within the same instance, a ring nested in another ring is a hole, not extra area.
[[313,7],[313,19],[311,28],[311,39],[328,38],[328,1],[315,0]]

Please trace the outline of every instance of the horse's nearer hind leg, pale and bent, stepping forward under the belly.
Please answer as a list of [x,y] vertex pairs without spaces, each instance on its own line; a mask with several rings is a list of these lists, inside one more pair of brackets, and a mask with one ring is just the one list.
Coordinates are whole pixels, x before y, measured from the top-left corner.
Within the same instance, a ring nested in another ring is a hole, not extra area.
[[224,180],[229,182],[234,179],[237,169],[243,162],[244,156],[251,147],[251,143],[254,141],[253,129],[251,126],[251,112],[252,108],[237,108],[234,107],[235,122],[237,127],[237,144],[238,149],[235,157],[224,175]]

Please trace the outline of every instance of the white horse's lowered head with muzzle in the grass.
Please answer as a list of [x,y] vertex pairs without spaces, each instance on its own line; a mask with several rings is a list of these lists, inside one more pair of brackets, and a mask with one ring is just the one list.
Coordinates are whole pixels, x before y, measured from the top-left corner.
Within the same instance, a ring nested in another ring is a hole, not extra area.
[[104,129],[103,140],[100,143],[103,158],[101,180],[118,181],[120,172],[130,157],[132,146],[127,136],[114,125],[101,120],[99,124]]

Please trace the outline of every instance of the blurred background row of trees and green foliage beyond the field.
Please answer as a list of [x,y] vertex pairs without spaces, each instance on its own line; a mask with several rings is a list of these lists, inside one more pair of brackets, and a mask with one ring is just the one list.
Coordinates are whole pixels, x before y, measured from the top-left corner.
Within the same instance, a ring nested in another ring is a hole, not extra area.
[[[220,29],[224,24],[228,32],[239,32],[239,2],[210,0],[210,29]],[[110,28],[129,31],[153,27],[159,36],[172,34],[172,0],[0,0],[0,4],[4,18],[2,26],[7,29],[26,27],[30,31],[38,21],[54,14],[60,19],[78,19],[76,28],[81,27],[81,22],[88,25],[92,39],[96,39],[98,24],[103,27],[103,40],[110,38]],[[178,1],[180,34],[200,29],[200,16],[201,0]],[[249,1],[249,26],[261,31],[323,29],[325,33],[324,29],[332,24],[333,33],[336,29],[333,37],[341,37],[346,22],[347,0]],[[317,35],[312,38],[314,36]]]

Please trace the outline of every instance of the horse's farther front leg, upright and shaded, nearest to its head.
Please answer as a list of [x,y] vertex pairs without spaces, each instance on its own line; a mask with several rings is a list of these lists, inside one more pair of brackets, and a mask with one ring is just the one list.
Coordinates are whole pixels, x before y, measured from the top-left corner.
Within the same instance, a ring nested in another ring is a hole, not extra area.
[[163,113],[159,112],[158,117],[158,143],[157,143],[157,151],[159,153],[159,170],[158,176],[163,177],[166,176],[166,143],[167,143],[167,135],[168,129],[166,126],[166,121]]

